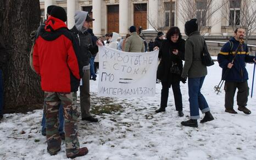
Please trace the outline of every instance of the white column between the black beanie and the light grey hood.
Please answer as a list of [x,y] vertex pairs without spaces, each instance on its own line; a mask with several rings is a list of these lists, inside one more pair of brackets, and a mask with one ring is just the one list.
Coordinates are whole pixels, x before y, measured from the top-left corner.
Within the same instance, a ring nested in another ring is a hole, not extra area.
[[67,8],[67,17],[68,17],[68,28],[71,29],[75,25],[75,0],[68,0],[66,1],[66,6]]

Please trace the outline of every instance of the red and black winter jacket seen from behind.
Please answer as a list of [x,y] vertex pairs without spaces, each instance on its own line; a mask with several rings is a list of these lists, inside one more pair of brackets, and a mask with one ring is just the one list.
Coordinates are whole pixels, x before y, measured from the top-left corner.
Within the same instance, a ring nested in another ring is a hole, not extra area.
[[47,92],[75,92],[82,77],[77,45],[66,24],[52,16],[38,31],[33,52],[33,66],[41,76],[41,87]]

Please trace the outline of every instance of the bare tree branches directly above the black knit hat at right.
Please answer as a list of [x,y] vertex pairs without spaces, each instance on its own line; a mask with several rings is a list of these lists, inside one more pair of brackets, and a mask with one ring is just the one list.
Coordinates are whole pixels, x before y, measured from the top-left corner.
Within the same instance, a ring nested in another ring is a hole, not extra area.
[[[222,5],[216,5],[214,0],[180,0],[179,2],[179,16],[184,23],[188,20],[197,19],[198,31],[202,33],[202,28],[209,24],[214,13],[218,11]],[[217,23],[213,22],[212,24]]]

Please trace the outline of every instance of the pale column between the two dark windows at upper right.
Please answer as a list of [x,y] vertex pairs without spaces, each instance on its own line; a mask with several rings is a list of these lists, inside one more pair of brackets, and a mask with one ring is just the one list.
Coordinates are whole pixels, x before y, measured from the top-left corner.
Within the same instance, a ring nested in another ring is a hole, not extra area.
[[[212,5],[214,5],[215,7],[213,7],[213,9],[219,8],[219,6],[221,6],[221,3],[222,3],[221,0],[214,0]],[[222,35],[221,34],[221,18],[220,17],[222,17],[221,8],[216,10],[216,12],[211,17],[212,28],[211,28],[210,35]]]

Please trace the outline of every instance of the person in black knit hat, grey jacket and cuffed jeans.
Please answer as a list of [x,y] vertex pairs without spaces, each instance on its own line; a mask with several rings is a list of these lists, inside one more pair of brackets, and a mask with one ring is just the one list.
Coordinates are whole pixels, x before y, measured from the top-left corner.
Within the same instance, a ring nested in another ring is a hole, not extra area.
[[196,21],[197,19],[192,19],[185,23],[185,33],[188,38],[185,43],[185,64],[181,74],[183,79],[188,78],[188,96],[190,97],[188,99],[190,102],[190,120],[182,121],[181,125],[188,127],[198,127],[199,109],[205,113],[201,123],[214,120],[208,103],[201,93],[204,78],[207,75],[207,67],[204,66],[201,59],[205,42],[198,31]]

